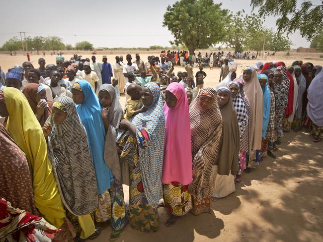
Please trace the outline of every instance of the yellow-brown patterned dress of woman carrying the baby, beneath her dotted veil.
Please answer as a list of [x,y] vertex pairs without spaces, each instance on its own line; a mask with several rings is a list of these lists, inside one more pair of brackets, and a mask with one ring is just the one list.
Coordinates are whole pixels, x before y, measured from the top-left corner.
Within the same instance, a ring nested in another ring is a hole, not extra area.
[[[143,129],[137,133],[137,139],[132,137],[127,132],[120,142],[120,147],[123,147],[121,157],[126,157],[130,167],[130,226],[139,231],[151,232],[157,231],[159,228],[159,216],[157,208],[150,206],[147,193],[145,192],[142,173],[139,160],[139,144],[148,142],[147,129]],[[145,141],[144,141],[145,140]]]

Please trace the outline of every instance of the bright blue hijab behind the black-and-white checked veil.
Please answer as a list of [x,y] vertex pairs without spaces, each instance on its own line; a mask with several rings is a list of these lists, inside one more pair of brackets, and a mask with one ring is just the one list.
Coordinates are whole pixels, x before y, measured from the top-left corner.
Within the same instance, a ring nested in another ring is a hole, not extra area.
[[76,108],[86,130],[87,140],[94,163],[97,190],[99,194],[103,194],[106,189],[110,188],[113,175],[110,168],[105,165],[103,158],[105,129],[101,118],[101,106],[89,82],[85,80],[76,82],[80,84],[85,96],[84,102],[76,105]]

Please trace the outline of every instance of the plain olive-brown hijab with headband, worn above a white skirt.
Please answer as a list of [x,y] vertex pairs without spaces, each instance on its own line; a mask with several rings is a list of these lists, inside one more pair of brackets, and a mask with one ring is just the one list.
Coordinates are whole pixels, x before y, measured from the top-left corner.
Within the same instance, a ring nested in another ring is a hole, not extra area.
[[[230,93],[228,87],[221,87],[218,93],[225,91]],[[228,103],[220,108],[222,116],[222,144],[219,150],[219,159],[215,163],[218,165],[219,175],[238,174],[239,172],[239,150],[240,136],[237,113],[233,106],[231,95],[229,95]]]

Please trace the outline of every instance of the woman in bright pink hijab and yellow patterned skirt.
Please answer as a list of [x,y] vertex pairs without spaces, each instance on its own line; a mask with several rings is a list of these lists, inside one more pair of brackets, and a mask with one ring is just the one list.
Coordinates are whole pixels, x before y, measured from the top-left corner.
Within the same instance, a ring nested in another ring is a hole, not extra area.
[[192,182],[192,148],[188,100],[184,87],[172,82],[165,91],[165,142],[162,179],[164,206],[170,218],[165,226],[173,225],[177,216],[192,208],[188,184]]

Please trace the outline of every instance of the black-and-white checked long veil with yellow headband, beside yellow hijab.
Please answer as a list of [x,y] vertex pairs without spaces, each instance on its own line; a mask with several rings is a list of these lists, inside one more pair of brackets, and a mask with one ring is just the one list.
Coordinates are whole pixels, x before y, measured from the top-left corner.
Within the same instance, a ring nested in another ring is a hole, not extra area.
[[98,201],[86,131],[71,98],[58,97],[53,106],[67,113],[60,124],[49,119],[48,155],[54,176],[65,207],[74,215],[86,215],[97,208]]

